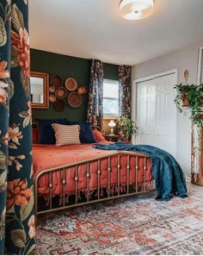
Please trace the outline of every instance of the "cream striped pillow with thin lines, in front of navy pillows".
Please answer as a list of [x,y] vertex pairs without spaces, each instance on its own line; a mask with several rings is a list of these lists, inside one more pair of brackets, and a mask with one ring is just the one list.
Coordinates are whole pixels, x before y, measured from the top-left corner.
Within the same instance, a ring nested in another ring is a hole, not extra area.
[[79,139],[79,125],[63,125],[52,123],[52,128],[55,132],[56,146],[81,144]]

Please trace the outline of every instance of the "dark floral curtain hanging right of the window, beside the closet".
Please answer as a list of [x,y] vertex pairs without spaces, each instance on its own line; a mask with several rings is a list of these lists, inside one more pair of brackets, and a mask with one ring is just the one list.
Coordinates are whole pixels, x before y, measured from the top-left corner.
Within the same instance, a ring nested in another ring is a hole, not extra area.
[[[120,118],[131,118],[131,66],[119,66]],[[125,130],[119,129],[120,140],[126,141]]]

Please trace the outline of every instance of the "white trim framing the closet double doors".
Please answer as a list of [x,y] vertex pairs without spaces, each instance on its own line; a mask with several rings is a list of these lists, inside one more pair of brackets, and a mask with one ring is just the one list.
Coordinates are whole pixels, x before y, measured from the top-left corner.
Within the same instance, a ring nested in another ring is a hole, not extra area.
[[[152,80],[154,78],[159,78],[159,77],[163,77],[163,76],[168,76],[171,74],[175,74],[175,84],[177,84],[177,69],[172,69],[166,72],[160,72],[148,77],[144,77],[144,78],[138,78],[138,79],[134,79],[132,80],[132,92],[133,96],[132,96],[132,121],[136,122],[137,119],[137,109],[136,109],[136,98],[137,98],[137,86],[136,84],[141,83],[141,82],[145,82],[148,80]],[[178,120],[177,120],[177,110],[175,112],[175,127],[176,127],[176,133],[175,133],[175,157],[177,157],[177,137],[178,137]],[[135,134],[133,134],[132,136],[132,143],[135,143]]]

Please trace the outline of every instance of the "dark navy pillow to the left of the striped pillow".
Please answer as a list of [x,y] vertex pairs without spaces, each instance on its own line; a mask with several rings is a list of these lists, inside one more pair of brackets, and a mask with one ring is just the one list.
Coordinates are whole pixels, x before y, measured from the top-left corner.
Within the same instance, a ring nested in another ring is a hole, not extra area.
[[55,133],[52,128],[52,123],[66,124],[65,119],[52,119],[52,120],[38,120],[38,128],[40,131],[39,143],[40,144],[56,144]]

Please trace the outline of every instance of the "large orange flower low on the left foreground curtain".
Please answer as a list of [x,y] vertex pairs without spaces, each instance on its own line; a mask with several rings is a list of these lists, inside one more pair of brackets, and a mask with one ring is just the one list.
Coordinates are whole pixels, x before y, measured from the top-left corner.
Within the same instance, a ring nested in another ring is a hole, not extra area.
[[11,209],[14,205],[26,205],[32,195],[32,190],[28,189],[27,179],[20,181],[15,179],[8,182],[7,192],[7,210]]

